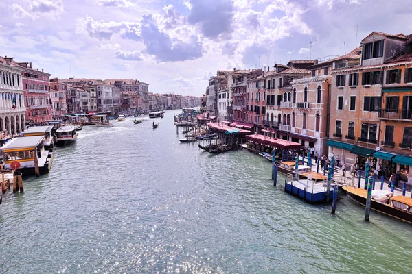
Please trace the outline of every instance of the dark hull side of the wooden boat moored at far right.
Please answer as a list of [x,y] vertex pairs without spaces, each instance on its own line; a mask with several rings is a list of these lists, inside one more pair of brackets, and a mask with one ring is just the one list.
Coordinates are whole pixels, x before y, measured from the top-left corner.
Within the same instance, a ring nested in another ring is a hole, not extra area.
[[[366,205],[365,197],[356,195],[355,193],[352,193],[350,191],[346,191],[346,195],[350,197],[352,201],[365,207]],[[385,204],[385,203],[379,203],[378,201],[371,200],[371,210],[375,210],[376,212],[380,212],[387,216],[391,216],[392,218],[395,218],[395,219],[399,219],[399,220],[402,220],[408,223],[412,223],[412,213],[411,212],[407,212],[406,210],[400,210],[398,208],[394,208],[393,206],[389,206],[388,204]]]

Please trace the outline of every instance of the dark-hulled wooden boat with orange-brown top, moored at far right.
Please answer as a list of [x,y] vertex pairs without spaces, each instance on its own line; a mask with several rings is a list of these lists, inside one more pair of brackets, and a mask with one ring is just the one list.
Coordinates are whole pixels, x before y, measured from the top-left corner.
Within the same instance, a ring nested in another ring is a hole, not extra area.
[[[343,186],[343,190],[352,201],[361,206],[366,205],[367,190],[354,186]],[[412,223],[412,198],[393,197],[393,193],[388,190],[372,190],[371,210]]]

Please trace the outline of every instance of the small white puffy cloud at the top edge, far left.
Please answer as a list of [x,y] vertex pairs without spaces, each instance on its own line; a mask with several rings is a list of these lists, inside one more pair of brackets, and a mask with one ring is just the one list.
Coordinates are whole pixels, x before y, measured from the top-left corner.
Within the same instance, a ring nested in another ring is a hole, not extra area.
[[58,18],[58,15],[65,11],[62,0],[32,0],[27,1],[27,4],[24,5],[13,3],[12,10],[16,18],[29,17],[32,19],[41,16]]

